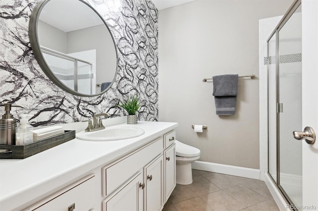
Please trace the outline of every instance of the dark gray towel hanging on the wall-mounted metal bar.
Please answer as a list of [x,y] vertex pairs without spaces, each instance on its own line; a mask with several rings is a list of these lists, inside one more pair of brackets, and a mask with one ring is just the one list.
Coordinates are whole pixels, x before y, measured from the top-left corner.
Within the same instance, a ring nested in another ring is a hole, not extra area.
[[239,75],[213,76],[213,96],[217,115],[233,115],[237,106]]

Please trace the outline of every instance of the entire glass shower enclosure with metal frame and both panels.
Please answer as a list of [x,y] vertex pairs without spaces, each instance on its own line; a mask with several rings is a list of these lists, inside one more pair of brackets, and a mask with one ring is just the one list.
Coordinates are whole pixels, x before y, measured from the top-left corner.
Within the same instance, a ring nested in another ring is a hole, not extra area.
[[302,14],[301,0],[267,40],[268,172],[290,205],[302,205]]

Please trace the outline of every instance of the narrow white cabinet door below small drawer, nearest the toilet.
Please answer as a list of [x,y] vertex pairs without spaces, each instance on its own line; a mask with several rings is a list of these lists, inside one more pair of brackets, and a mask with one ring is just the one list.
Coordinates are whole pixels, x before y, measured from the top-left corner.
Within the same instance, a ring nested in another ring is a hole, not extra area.
[[166,149],[164,155],[164,203],[175,188],[175,144]]

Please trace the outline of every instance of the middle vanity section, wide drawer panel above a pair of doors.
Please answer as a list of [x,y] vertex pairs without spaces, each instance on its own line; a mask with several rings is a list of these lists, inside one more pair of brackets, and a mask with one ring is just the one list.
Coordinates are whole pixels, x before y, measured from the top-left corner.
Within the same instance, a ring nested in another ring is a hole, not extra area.
[[163,208],[163,138],[102,168],[103,211]]

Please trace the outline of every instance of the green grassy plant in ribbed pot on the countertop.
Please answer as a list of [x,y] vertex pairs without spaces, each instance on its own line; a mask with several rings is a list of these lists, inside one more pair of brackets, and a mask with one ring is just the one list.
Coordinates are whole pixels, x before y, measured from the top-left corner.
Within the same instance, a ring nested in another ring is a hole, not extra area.
[[127,124],[137,124],[138,116],[136,112],[141,106],[139,96],[130,95],[127,99],[121,101],[119,106],[124,108],[128,113]]

